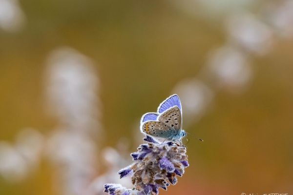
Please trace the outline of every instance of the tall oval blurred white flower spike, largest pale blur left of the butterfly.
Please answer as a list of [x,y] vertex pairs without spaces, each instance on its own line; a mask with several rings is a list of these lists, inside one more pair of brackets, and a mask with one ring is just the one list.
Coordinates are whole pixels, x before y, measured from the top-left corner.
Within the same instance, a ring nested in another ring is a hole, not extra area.
[[46,97],[48,108],[71,130],[86,131],[95,127],[100,106],[98,79],[92,61],[78,51],[62,47],[47,60]]

